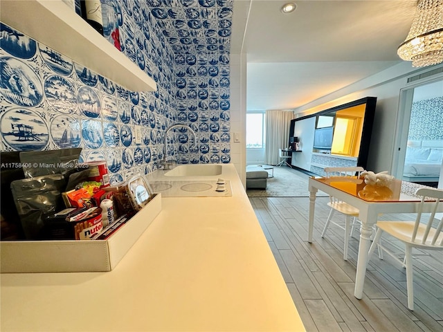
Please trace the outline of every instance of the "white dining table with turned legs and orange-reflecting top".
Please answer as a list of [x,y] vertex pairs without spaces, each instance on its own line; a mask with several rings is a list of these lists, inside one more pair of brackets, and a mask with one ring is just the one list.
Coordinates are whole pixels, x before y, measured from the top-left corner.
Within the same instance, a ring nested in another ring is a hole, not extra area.
[[[415,196],[415,191],[419,187],[425,186],[398,179],[392,180],[386,186],[375,186],[366,185],[363,177],[309,178],[309,227],[307,239],[309,243],[312,242],[316,193],[318,190],[335,196],[337,199],[341,199],[359,209],[361,231],[354,288],[354,296],[357,299],[361,299],[363,296],[372,225],[377,223],[377,217],[381,213],[416,213],[420,199]],[[425,203],[423,212],[431,212],[431,204]],[[443,212],[443,202],[439,204],[437,212]],[[415,216],[411,216],[411,220],[415,220]]]

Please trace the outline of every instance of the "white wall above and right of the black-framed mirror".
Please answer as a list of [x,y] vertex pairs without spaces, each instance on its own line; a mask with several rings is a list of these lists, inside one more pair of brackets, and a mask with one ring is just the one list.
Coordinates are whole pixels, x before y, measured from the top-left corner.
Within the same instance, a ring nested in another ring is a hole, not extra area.
[[394,142],[397,134],[396,124],[399,115],[400,89],[417,84],[417,81],[408,84],[408,77],[440,67],[443,67],[443,64],[413,68],[409,62],[401,62],[335,93],[298,107],[294,111],[306,115],[360,98],[377,97],[367,168],[374,172],[392,172],[392,158],[397,151]]

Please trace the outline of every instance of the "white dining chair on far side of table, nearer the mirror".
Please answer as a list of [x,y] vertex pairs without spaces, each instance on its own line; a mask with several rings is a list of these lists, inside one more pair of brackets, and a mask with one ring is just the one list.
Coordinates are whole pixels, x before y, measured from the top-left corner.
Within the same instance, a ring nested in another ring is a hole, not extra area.
[[[336,177],[336,176],[357,176],[359,177],[361,172],[364,171],[363,167],[325,167],[326,178]],[[327,216],[325,227],[321,233],[321,237],[325,237],[327,228],[330,223],[338,226],[345,231],[345,247],[343,249],[343,259],[347,261],[347,248],[349,246],[349,239],[354,234],[354,229],[356,226],[361,225],[360,221],[357,219],[359,216],[359,209],[354,208],[352,205],[345,203],[334,196],[329,196],[329,202],[327,205],[331,208],[329,215]],[[332,220],[334,213],[338,211],[345,215],[345,222],[340,223]]]

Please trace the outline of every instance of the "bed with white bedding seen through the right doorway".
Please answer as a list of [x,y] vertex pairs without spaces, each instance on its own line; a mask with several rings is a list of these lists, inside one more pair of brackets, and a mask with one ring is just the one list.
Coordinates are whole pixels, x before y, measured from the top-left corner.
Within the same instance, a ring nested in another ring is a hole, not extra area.
[[403,180],[438,182],[443,164],[443,140],[408,140]]

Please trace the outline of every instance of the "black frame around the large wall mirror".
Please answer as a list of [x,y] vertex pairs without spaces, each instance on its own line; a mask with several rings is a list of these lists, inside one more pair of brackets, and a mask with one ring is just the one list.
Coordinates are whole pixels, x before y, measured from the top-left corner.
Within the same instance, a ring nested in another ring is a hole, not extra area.
[[[370,147],[370,140],[372,135],[372,124],[374,123],[375,106],[377,104],[377,97],[365,97],[359,100],[354,100],[353,102],[348,102],[337,107],[332,107],[330,109],[325,109],[324,111],[319,111],[317,113],[309,114],[308,116],[302,116],[291,120],[291,127],[289,127],[289,137],[294,136],[294,127],[297,121],[305,120],[308,118],[313,118],[320,115],[326,115],[329,113],[335,113],[343,109],[350,107],[356,107],[361,104],[365,104],[365,116],[363,118],[363,129],[361,133],[361,144],[359,149],[359,156],[357,158],[357,166],[361,166],[366,169],[368,163],[368,154]],[[309,170],[308,170],[309,172]]]

